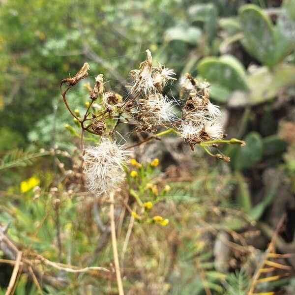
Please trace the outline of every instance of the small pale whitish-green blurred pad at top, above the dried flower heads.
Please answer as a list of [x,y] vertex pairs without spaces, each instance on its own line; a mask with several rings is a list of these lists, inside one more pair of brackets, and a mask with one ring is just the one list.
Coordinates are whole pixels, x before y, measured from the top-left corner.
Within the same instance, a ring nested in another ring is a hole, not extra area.
[[198,43],[202,36],[202,30],[196,27],[174,27],[167,29],[165,32],[165,39],[167,41],[183,41],[192,45]]

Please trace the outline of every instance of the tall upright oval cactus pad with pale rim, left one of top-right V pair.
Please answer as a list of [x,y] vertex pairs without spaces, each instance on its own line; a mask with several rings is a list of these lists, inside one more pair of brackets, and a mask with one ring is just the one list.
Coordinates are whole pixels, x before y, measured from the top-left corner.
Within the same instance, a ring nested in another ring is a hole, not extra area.
[[276,46],[270,18],[254,4],[243,5],[239,16],[244,34],[243,47],[251,56],[272,67]]

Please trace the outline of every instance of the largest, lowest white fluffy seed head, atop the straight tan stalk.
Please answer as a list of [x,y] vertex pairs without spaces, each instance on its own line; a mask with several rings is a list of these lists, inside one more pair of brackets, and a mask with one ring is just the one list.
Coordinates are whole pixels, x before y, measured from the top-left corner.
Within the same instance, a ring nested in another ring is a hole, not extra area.
[[99,196],[118,188],[125,176],[123,165],[128,154],[124,146],[105,138],[96,147],[86,148],[84,174],[89,191]]

